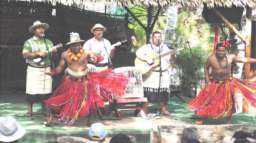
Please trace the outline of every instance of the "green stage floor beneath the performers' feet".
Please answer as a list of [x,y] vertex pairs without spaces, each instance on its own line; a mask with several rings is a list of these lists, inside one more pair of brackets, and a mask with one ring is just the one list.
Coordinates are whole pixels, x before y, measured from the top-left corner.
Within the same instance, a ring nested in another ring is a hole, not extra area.
[[[196,120],[187,119],[187,117],[192,116],[194,112],[188,111],[186,108],[186,103],[182,103],[180,99],[174,96],[171,98],[173,98],[171,100],[175,101],[176,103],[171,102],[167,105],[167,109],[169,112],[175,115],[172,118],[176,118],[177,120],[164,117],[156,117],[150,120],[142,119],[140,114],[134,116],[134,110],[123,109],[120,110],[120,112],[123,114],[120,121],[101,121],[98,114],[94,113],[92,122],[103,123],[107,128],[107,137],[111,137],[118,133],[125,133],[126,135],[135,136],[137,143],[150,143],[151,129],[154,129],[154,131],[160,130],[161,132],[161,128],[164,126],[164,135],[168,137],[166,128],[171,126],[182,126],[183,128],[195,125],[194,122]],[[187,103],[191,101],[191,98],[187,98],[185,96],[182,96],[182,98],[185,99]],[[106,104],[106,109],[107,106],[108,104]],[[157,106],[157,103],[150,103],[148,108],[148,116],[156,115]],[[26,129],[27,133],[20,139],[21,143],[47,143],[50,141],[57,141],[57,137],[59,136],[76,136],[87,138],[88,135],[89,127],[86,126],[87,118],[79,118],[71,126],[67,126],[66,121],[54,121],[51,127],[46,127],[43,125],[43,122],[47,121],[48,117],[31,120],[31,118],[42,116],[40,103],[34,103],[33,117],[25,117],[24,113],[26,113],[28,110],[24,89],[1,88],[0,110],[0,118],[5,116],[13,116],[17,122]],[[47,110],[50,111],[49,109]],[[116,116],[114,113],[112,113],[112,115]],[[222,119],[208,119],[204,122],[204,125],[221,125],[225,124],[225,120],[225,117]],[[247,126],[250,124],[255,124],[255,120],[253,118],[253,114],[250,113],[234,114],[231,118],[231,124],[244,124],[244,126]],[[181,135],[182,130],[177,130],[176,132],[178,132],[177,135]],[[177,140],[179,138],[180,136],[177,136]]]

